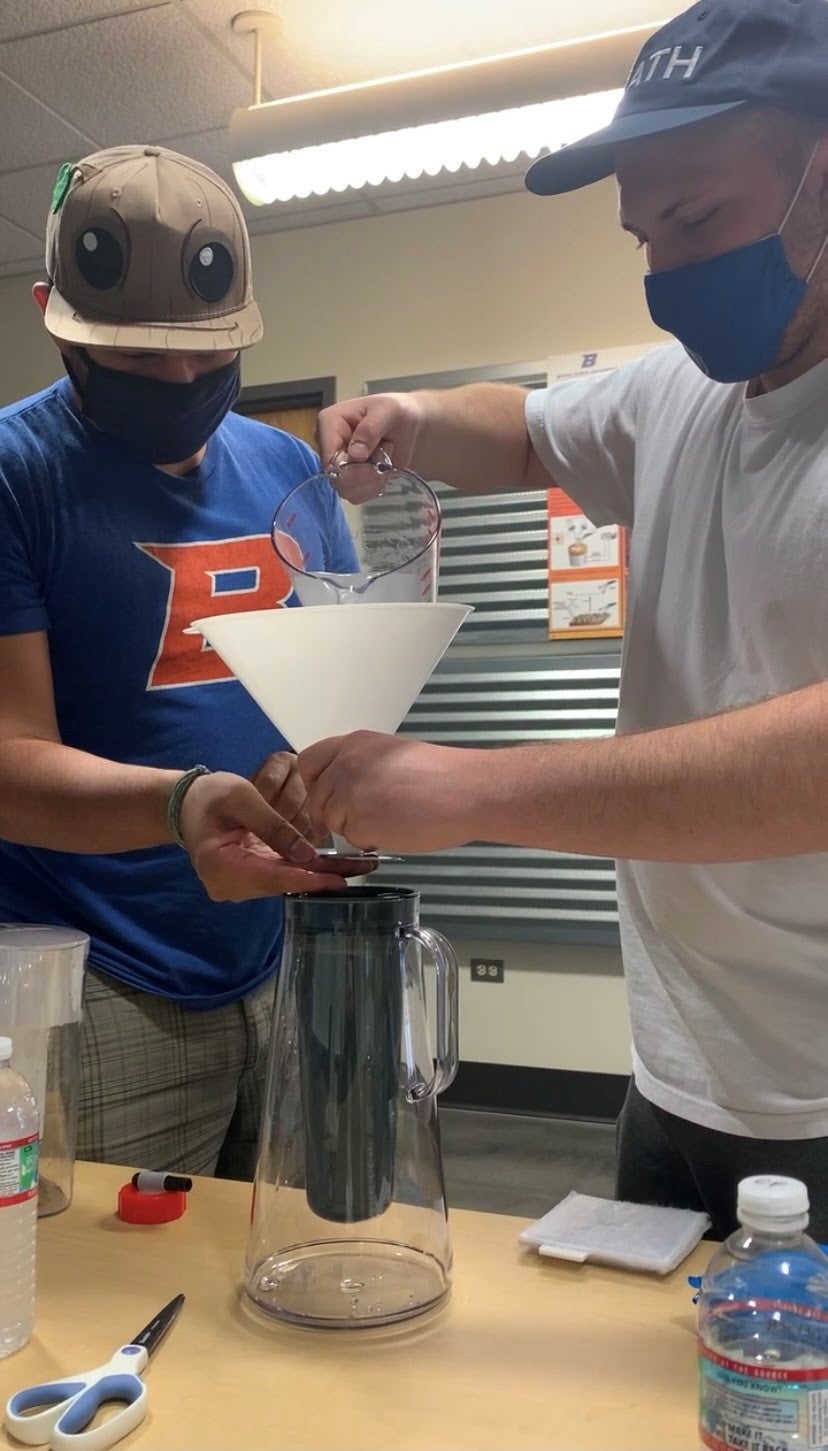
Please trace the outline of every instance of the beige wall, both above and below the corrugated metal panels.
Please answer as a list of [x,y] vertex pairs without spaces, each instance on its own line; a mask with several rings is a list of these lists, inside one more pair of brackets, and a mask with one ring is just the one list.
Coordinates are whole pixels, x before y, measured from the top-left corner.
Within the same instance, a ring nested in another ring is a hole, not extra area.
[[[641,257],[622,237],[610,183],[571,197],[503,196],[254,238],[265,340],[245,383],[334,374],[341,398],[367,379],[518,363],[642,342]],[[0,281],[0,402],[58,376],[33,279]],[[616,952],[457,942],[463,1056],[626,1072]],[[468,959],[506,959],[506,981],[471,984]]]

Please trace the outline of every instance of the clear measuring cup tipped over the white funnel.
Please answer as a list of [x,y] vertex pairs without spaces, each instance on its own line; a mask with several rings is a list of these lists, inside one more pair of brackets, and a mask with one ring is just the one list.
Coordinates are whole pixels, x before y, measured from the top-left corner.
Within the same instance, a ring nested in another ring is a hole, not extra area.
[[[352,505],[352,569],[332,572],[319,557],[319,517],[331,489],[349,469],[374,469],[380,492]],[[273,521],[273,547],[303,605],[434,604],[439,566],[441,509],[434,489],[410,469],[396,469],[380,448],[368,463],[336,454],[281,501]]]

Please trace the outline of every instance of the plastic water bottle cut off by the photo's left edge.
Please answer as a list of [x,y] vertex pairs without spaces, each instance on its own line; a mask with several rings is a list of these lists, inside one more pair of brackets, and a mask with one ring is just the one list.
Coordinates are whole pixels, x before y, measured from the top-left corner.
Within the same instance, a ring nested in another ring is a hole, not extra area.
[[19,1351],[35,1325],[35,1241],[41,1117],[0,1037],[0,1357]]

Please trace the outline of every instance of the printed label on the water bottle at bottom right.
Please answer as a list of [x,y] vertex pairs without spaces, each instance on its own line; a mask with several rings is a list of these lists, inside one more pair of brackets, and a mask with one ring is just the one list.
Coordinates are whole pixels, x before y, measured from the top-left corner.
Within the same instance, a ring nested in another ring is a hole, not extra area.
[[[828,1315],[782,1306],[822,1322]],[[828,1364],[748,1365],[699,1342],[699,1435],[711,1451],[825,1451]]]

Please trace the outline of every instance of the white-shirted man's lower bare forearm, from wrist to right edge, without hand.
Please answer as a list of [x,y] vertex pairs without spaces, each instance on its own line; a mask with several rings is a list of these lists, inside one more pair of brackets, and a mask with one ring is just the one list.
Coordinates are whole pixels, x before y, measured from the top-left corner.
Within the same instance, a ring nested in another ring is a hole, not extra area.
[[670,730],[486,755],[481,840],[695,863],[828,852],[828,683]]

